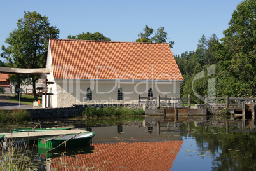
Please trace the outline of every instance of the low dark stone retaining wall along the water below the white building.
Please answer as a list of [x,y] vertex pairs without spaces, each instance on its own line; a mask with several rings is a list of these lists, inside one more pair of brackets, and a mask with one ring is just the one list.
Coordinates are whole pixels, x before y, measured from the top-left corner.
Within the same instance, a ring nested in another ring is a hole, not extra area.
[[127,107],[129,109],[141,109],[142,106],[139,104],[94,104],[94,106],[87,105],[74,105],[73,107],[62,107],[62,108],[39,108],[39,109],[28,109],[32,119],[43,119],[43,118],[70,118],[73,116],[80,116],[86,107]]

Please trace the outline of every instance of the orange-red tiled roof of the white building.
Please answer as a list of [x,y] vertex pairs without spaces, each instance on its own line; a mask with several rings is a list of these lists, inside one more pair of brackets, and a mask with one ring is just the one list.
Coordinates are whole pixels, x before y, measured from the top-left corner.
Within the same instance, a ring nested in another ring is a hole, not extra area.
[[55,79],[183,81],[167,43],[50,39]]

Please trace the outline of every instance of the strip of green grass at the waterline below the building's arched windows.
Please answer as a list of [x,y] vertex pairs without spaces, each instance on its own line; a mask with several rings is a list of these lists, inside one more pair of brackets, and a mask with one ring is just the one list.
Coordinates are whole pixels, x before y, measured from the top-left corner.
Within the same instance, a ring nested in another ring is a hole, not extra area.
[[87,107],[82,113],[82,116],[136,116],[143,115],[145,112],[143,109],[128,109],[126,107]]

